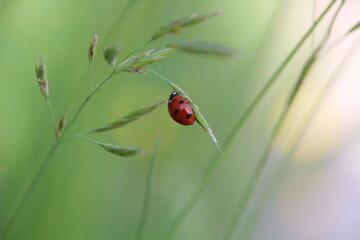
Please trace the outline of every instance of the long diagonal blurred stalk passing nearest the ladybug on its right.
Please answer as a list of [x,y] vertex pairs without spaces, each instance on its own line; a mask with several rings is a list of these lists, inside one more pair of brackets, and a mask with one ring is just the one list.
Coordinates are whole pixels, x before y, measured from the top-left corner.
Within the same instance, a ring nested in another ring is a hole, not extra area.
[[[254,98],[254,101],[249,105],[249,107],[245,110],[243,116],[240,120],[235,124],[234,128],[230,131],[229,135],[226,137],[221,149],[224,152],[227,151],[229,146],[231,145],[232,141],[234,140],[235,136],[238,134],[240,129],[242,128],[243,124],[249,118],[253,110],[256,108],[260,100],[264,97],[267,93],[269,88],[275,82],[275,80],[279,77],[285,67],[289,64],[290,60],[294,57],[294,55],[299,51],[300,47],[304,44],[304,42],[309,38],[311,33],[314,29],[318,26],[318,24],[323,20],[323,18],[327,15],[329,10],[332,8],[336,0],[332,0],[329,5],[325,8],[325,10],[321,13],[319,18],[312,24],[312,26],[307,30],[304,36],[300,39],[300,41],[294,46],[291,50],[289,55],[284,59],[284,61],[280,64],[277,70],[273,73],[273,75],[269,78],[266,82],[264,87],[260,90],[260,92]],[[188,216],[189,212],[199,199],[201,193],[205,189],[205,186],[209,182],[210,178],[214,174],[215,170],[217,169],[218,165],[220,164],[221,154],[217,153],[214,159],[211,161],[210,165],[206,168],[206,170],[202,173],[200,177],[200,183],[198,184],[197,188],[195,189],[194,193],[190,196],[189,200],[185,203],[184,207],[181,209],[178,216],[175,217],[173,222],[170,224],[168,231],[165,234],[166,240],[172,239],[176,234],[180,224],[185,220]]]

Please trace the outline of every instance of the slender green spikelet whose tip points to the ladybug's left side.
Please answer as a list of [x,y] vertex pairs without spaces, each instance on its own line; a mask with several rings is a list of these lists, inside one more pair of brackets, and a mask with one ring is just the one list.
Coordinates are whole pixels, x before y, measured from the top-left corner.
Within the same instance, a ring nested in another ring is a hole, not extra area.
[[90,130],[86,133],[94,133],[94,132],[104,132],[104,131],[109,131],[109,130],[113,130],[119,127],[123,127],[143,116],[145,116],[146,114],[151,113],[152,111],[158,109],[159,107],[161,107],[162,105],[164,105],[166,103],[166,101],[162,101],[159,103],[155,103],[155,104],[151,104],[149,106],[146,106],[144,108],[140,108],[137,109],[133,112],[130,112],[128,114],[126,114],[125,116],[110,122],[104,126],[98,127],[96,129]]

